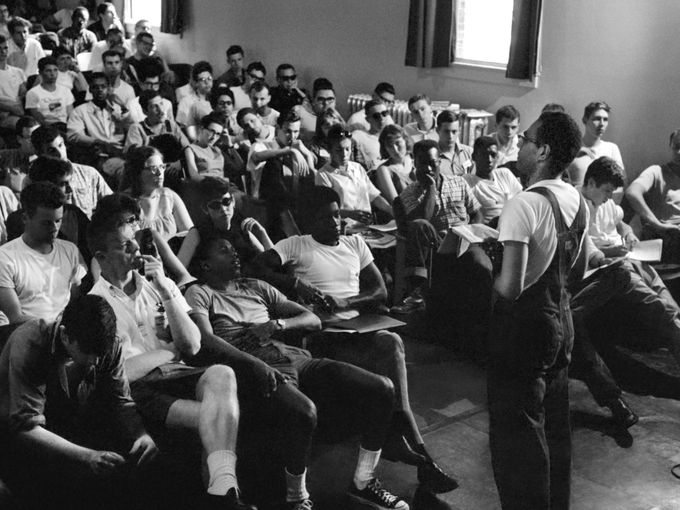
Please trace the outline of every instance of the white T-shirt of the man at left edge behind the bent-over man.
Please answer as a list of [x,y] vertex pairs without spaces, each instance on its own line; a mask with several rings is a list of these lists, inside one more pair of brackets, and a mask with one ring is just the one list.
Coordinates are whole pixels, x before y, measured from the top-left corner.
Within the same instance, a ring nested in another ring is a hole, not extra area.
[[80,285],[85,264],[75,244],[55,239],[48,254],[30,248],[21,237],[0,246],[0,287],[14,289],[21,312],[46,321],[57,318]]

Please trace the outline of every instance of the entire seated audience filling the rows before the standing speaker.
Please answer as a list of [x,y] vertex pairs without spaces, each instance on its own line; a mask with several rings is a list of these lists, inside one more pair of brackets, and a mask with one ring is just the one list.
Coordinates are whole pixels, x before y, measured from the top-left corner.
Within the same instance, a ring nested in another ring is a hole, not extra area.
[[[440,248],[451,228],[496,227],[530,184],[518,158],[538,140],[520,132],[520,112],[499,108],[495,132],[469,147],[461,117],[435,115],[425,94],[408,99],[413,122],[395,124],[387,82],[345,119],[327,78],[310,95],[283,63],[270,87],[265,66],[232,45],[219,77],[198,61],[176,86],[149,23],[125,39],[110,3],[34,13],[57,31],[46,48],[5,7],[0,0],[0,477],[8,482],[0,506],[16,498],[46,508],[49,490],[54,508],[104,508],[99,499],[135,508],[127,498],[152,492],[145,477],[163,469],[157,444],[179,429],[200,440],[195,475],[204,474],[206,508],[256,508],[236,476],[244,435],[282,451],[285,491],[269,503],[309,510],[318,429],[360,435],[348,490],[357,504],[409,508],[401,488],[376,477],[382,457],[416,466],[418,508],[447,508],[436,495],[458,482],[418,429],[401,337],[322,328],[387,313],[391,303],[395,314],[424,311],[450,346],[486,360],[502,253],[493,243],[462,255]],[[82,52],[92,53],[87,72],[77,65]],[[626,179],[618,147],[603,140],[610,112],[601,101],[585,107],[581,147],[561,177],[588,211],[591,268],[639,242],[612,199]],[[670,146],[670,161],[644,170],[625,196],[640,237],[662,238],[663,260],[677,262],[680,131]],[[349,235],[392,218],[408,274],[397,302],[383,276],[395,274],[389,258]],[[613,421],[630,427],[637,416],[589,322],[630,310],[644,340],[680,362],[680,308],[649,264],[577,277],[569,290],[573,364]],[[103,416],[121,431],[102,427]],[[84,479],[91,485],[81,492]],[[120,490],[128,484],[133,492]]]

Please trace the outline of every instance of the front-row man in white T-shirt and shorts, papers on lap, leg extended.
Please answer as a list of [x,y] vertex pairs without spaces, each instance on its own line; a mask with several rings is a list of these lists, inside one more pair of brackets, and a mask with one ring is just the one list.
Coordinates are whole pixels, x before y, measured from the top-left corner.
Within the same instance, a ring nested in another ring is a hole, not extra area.
[[[322,319],[351,318],[375,310],[387,297],[385,283],[361,236],[341,234],[340,197],[317,187],[309,197],[309,235],[279,241],[263,253],[260,269],[265,279],[298,299],[313,305]],[[290,275],[280,273],[288,268]],[[404,344],[396,333],[320,333],[310,342],[315,357],[352,363],[389,377],[395,387],[396,410],[384,456],[418,466],[424,488],[440,493],[458,483],[430,457],[411,411]]]

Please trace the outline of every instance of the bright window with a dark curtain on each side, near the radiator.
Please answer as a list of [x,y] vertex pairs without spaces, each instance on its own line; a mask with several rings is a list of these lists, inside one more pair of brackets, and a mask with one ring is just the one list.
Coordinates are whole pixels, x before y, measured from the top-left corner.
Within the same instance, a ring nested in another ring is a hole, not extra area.
[[458,0],[454,62],[505,69],[513,0]]

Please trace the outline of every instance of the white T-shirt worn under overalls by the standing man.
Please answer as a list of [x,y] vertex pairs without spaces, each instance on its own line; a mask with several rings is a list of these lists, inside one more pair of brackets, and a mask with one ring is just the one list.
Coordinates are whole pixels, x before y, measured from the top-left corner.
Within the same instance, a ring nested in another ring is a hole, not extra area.
[[[505,205],[498,222],[498,240],[518,241],[529,246],[524,289],[536,283],[545,273],[557,248],[555,217],[550,202],[538,193],[528,191],[538,187],[547,188],[555,194],[567,226],[573,223],[580,205],[579,192],[561,179],[539,181]],[[583,237],[588,239],[588,236]],[[581,249],[584,249],[583,245]]]

